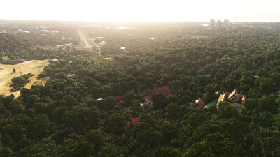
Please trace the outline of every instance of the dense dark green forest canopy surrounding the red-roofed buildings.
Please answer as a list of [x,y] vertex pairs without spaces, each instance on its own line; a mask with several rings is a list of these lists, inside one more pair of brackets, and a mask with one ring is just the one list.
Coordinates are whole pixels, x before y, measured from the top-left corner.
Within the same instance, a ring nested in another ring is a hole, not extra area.
[[[44,86],[0,96],[0,156],[280,156],[279,25],[72,26],[104,37],[102,54],[0,33],[0,57],[58,59],[38,75],[50,77]],[[164,86],[176,96],[140,105]],[[241,112],[228,103],[217,110],[218,95],[234,89],[246,95]],[[198,98],[208,110],[194,105]]]

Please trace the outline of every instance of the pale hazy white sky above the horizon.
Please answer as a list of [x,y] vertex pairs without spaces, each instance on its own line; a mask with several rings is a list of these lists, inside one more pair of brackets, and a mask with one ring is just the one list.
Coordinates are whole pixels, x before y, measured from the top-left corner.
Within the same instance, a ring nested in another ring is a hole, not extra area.
[[280,22],[280,0],[1,0],[0,19]]

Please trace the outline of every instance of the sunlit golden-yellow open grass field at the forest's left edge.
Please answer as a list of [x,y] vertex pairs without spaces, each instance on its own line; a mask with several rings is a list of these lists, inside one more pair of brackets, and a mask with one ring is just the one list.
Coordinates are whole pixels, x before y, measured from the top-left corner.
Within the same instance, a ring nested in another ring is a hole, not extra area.
[[[37,79],[36,77],[42,73],[43,68],[48,64],[48,59],[25,61],[16,65],[0,64],[0,95],[10,96],[10,94],[13,94],[15,98],[20,96],[20,91],[11,92],[12,87],[9,87],[12,84],[12,78],[20,76],[20,72],[22,74],[34,74],[28,79],[30,82],[25,84],[25,88],[30,89],[32,85],[45,84],[48,78]],[[15,68],[15,73],[13,73],[13,68]]]

